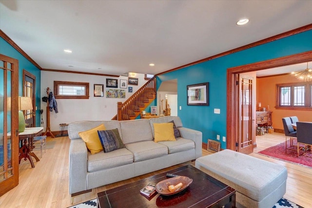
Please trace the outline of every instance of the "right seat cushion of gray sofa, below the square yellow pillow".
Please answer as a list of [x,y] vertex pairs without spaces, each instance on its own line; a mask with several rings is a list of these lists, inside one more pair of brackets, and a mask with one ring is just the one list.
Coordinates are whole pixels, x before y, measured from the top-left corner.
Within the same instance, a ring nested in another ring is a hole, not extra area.
[[162,141],[159,144],[166,145],[168,147],[169,154],[179,151],[188,151],[195,149],[195,142],[191,139],[184,139],[182,137],[176,138],[176,141]]

